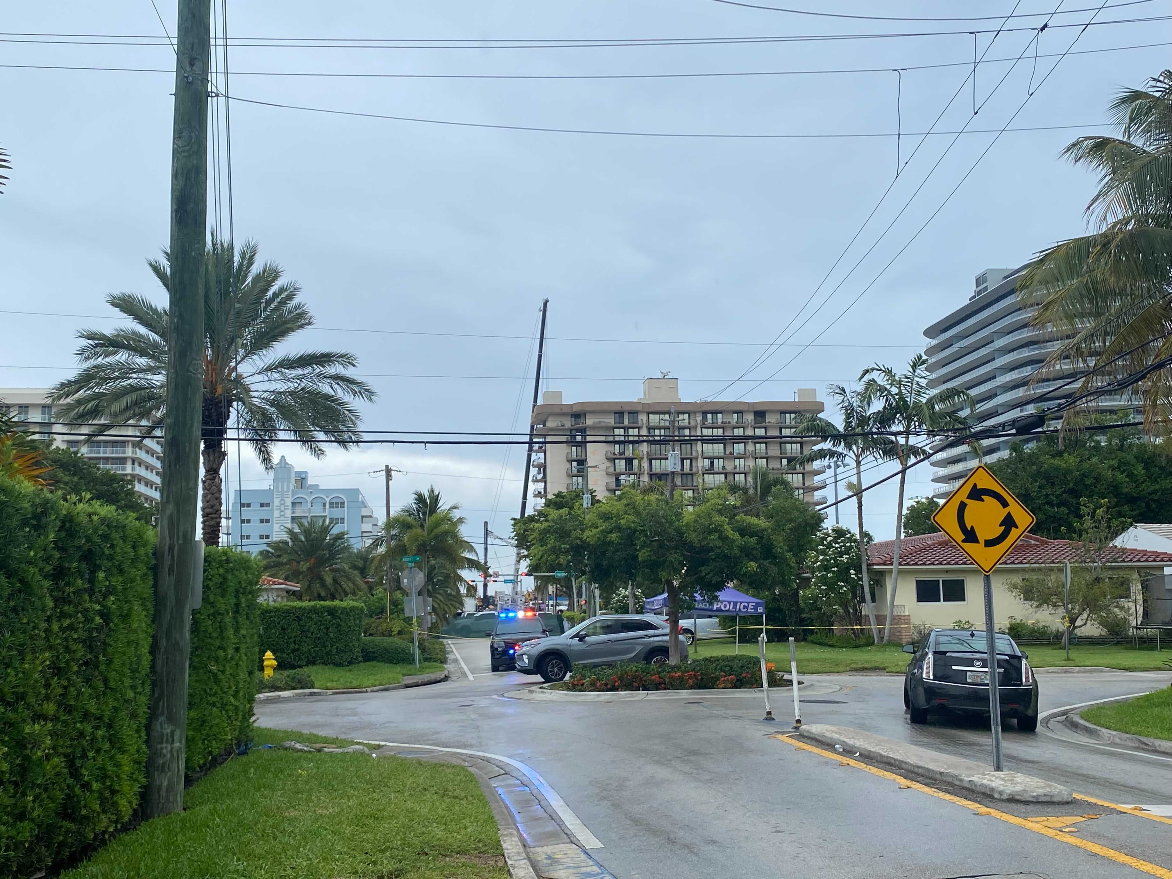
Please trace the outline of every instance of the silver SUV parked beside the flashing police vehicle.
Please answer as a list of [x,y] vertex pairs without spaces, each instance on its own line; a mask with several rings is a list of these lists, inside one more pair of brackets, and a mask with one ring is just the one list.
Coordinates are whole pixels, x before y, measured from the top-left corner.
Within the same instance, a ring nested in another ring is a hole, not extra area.
[[[517,670],[560,681],[574,666],[615,662],[667,662],[668,625],[652,614],[607,614],[579,622],[564,635],[530,641],[517,648]],[[688,646],[680,639],[680,659]]]

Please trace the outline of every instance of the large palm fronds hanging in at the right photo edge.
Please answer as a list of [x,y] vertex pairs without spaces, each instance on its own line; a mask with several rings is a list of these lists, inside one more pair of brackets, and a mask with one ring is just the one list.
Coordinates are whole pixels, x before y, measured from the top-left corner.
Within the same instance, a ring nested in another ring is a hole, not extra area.
[[[1086,216],[1095,231],[1043,251],[1022,274],[1018,298],[1035,326],[1069,336],[1037,377],[1071,363],[1097,364],[1081,390],[1138,386],[1144,424],[1172,424],[1172,69],[1124,89],[1109,108],[1119,137],[1081,137],[1064,150],[1099,175]],[[1138,380],[1138,381],[1137,381]],[[1077,417],[1068,411],[1064,427]]]

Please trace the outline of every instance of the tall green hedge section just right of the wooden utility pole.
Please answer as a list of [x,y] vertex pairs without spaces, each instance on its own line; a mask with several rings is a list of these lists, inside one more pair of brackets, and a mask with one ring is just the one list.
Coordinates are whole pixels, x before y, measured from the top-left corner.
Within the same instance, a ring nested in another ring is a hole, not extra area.
[[188,775],[248,740],[257,694],[260,561],[245,552],[204,553],[203,607],[191,614]]

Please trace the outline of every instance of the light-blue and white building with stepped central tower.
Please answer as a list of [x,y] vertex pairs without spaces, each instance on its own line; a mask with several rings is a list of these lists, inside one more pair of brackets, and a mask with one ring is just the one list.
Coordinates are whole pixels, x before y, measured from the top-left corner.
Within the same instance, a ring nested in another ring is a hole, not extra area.
[[273,483],[267,489],[236,489],[232,492],[230,546],[251,553],[266,548],[271,540],[285,538],[285,530],[298,522],[329,522],[345,531],[355,548],[375,536],[379,520],[359,489],[322,489],[309,482],[307,470],[294,470],[281,455],[273,466]]

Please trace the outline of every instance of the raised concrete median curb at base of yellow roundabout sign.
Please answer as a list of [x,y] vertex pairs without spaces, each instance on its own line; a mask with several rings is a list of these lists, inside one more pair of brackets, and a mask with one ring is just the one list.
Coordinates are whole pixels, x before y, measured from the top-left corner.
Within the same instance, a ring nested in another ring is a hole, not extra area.
[[860,729],[811,723],[802,727],[798,736],[831,748],[838,745],[847,757],[858,756],[867,763],[914,772],[995,799],[1018,803],[1070,803],[1074,799],[1072,791],[1052,782],[1021,772],[994,772],[983,763],[949,757]]

